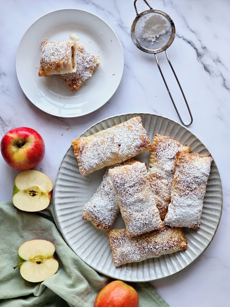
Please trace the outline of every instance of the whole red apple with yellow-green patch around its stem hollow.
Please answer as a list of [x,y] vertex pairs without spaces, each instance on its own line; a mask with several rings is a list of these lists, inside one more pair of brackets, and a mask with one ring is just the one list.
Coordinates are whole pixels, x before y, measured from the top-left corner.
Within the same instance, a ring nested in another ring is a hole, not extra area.
[[45,144],[35,130],[27,127],[8,131],[1,141],[2,157],[13,169],[24,171],[38,165],[45,154]]

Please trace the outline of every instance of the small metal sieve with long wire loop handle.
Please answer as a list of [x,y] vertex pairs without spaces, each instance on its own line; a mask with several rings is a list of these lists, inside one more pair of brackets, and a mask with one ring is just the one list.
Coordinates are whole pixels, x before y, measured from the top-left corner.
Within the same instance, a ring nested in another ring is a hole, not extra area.
[[[156,59],[156,63],[157,63],[157,66],[159,68],[159,71],[160,71],[160,74],[163,78],[163,81],[164,81],[164,84],[167,88],[167,91],[169,93],[169,96],[172,100],[172,103],[174,105],[174,108],[177,112],[177,115],[180,119],[180,121],[182,122],[182,124],[184,126],[190,126],[191,123],[193,122],[193,117],[192,117],[192,114],[191,114],[191,111],[190,111],[190,108],[189,108],[189,105],[187,103],[187,100],[186,100],[186,97],[184,95],[184,92],[182,90],[182,87],[179,83],[179,80],[176,76],[176,73],[172,67],[172,64],[169,60],[169,57],[168,57],[168,54],[167,54],[167,51],[166,49],[171,45],[171,43],[173,42],[174,40],[174,37],[175,37],[175,25],[174,25],[174,22],[172,21],[171,17],[162,12],[162,11],[159,11],[159,10],[153,10],[152,7],[148,4],[148,2],[146,0],[143,0],[149,7],[149,10],[147,11],[144,11],[142,13],[138,13],[137,9],[136,9],[136,1],[134,1],[134,8],[136,10],[136,18],[135,20],[133,21],[132,23],[132,27],[131,27],[131,37],[132,37],[132,41],[134,42],[134,44],[136,45],[137,48],[139,48],[140,50],[144,51],[144,52],[148,52],[148,53],[154,53],[155,55],[155,59]],[[163,18],[166,22],[166,33],[165,34],[162,34],[162,35],[159,35],[159,37],[155,37],[155,41],[151,41],[151,40],[147,40],[146,38],[143,38],[142,37],[142,33],[143,33],[143,29],[144,29],[144,25],[146,23],[146,21],[152,17],[153,15],[159,15],[161,16],[161,18]],[[182,118],[178,112],[178,109],[174,103],[174,100],[172,98],[172,95],[170,93],[170,90],[168,88],[168,85],[165,81],[165,78],[163,76],[163,73],[161,71],[161,68],[160,68],[160,65],[159,65],[159,62],[158,62],[158,59],[157,59],[157,56],[156,54],[159,53],[159,52],[162,52],[162,51],[165,51],[165,54],[166,54],[166,57],[167,57],[167,60],[169,62],[169,65],[172,69],[172,72],[174,73],[174,76],[177,80],[177,83],[178,83],[178,86],[180,87],[180,90],[181,90],[181,93],[183,95],[183,98],[185,100],[185,103],[186,103],[186,106],[187,106],[187,109],[189,111],[189,115],[190,115],[190,123],[189,124],[185,124],[183,121],[182,121]]]

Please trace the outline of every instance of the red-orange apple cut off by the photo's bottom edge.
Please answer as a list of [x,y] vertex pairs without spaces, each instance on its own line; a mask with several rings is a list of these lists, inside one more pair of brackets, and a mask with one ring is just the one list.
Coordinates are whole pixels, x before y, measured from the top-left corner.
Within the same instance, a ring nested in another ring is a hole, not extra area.
[[139,297],[133,287],[115,280],[98,293],[94,307],[138,307],[138,302]]

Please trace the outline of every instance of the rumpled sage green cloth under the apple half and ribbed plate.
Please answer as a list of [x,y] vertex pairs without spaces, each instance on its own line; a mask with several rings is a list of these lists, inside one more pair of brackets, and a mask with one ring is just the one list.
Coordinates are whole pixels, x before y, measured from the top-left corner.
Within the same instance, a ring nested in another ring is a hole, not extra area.
[[[18,263],[19,246],[32,239],[46,239],[56,247],[59,269],[44,282],[27,282],[19,268],[13,269]],[[12,201],[0,202],[0,257],[1,307],[93,307],[98,292],[112,281],[90,268],[68,247],[56,227],[53,204],[32,213],[17,209]],[[132,286],[139,295],[139,307],[169,306],[151,284]]]

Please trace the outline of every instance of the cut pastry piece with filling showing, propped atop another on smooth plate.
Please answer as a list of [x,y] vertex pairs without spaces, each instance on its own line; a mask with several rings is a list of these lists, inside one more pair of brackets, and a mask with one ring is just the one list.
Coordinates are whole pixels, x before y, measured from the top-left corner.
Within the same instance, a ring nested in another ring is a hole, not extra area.
[[76,72],[76,63],[77,43],[75,41],[42,42],[38,72],[40,77]]

